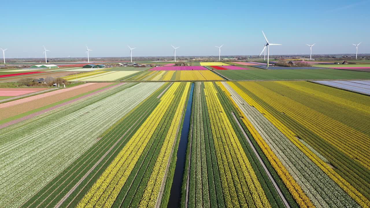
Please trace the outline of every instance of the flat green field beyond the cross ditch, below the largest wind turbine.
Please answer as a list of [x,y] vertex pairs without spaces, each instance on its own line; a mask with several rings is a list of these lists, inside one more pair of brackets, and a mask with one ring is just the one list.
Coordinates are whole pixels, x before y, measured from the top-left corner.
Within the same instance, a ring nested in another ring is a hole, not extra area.
[[338,69],[217,70],[230,80],[338,80],[370,79],[370,73]]

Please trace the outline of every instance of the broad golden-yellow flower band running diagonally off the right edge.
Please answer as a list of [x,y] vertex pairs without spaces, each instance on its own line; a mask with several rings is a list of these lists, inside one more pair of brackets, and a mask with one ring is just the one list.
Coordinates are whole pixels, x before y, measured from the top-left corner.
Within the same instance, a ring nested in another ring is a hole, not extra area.
[[307,129],[370,169],[370,150],[366,147],[370,137],[366,134],[269,90],[256,82],[240,82],[240,84],[269,105],[294,118]]

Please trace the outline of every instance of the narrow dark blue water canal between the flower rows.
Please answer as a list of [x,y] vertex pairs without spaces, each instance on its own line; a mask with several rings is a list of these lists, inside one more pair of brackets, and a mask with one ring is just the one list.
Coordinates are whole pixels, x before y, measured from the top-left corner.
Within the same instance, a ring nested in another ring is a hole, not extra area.
[[169,194],[168,208],[180,207],[181,187],[184,178],[186,161],[186,148],[188,147],[188,134],[190,127],[191,106],[193,103],[194,83],[191,84],[188,105],[186,106],[184,123],[182,124],[179,148],[177,150],[177,160],[175,167],[174,180],[172,181],[171,192]]

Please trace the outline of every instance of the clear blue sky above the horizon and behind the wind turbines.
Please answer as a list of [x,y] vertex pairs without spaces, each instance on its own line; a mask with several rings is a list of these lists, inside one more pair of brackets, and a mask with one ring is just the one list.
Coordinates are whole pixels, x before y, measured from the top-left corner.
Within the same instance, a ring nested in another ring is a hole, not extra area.
[[[234,3],[235,2],[235,3]],[[3,1],[6,58],[370,53],[365,1]],[[2,57],[2,54],[0,55]]]

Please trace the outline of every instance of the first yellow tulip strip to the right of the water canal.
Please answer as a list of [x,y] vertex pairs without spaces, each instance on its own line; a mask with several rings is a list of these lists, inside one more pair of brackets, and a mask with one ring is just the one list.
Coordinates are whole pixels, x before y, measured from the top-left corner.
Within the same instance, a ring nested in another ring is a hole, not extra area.
[[248,204],[271,207],[217,97],[213,83],[205,83],[204,91],[227,207],[246,207]]

